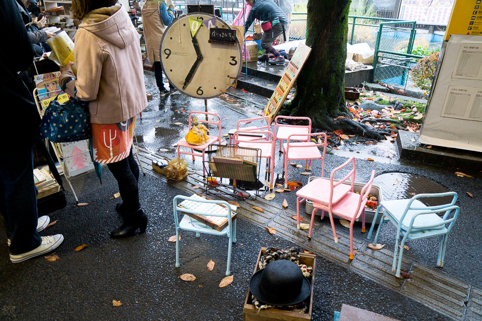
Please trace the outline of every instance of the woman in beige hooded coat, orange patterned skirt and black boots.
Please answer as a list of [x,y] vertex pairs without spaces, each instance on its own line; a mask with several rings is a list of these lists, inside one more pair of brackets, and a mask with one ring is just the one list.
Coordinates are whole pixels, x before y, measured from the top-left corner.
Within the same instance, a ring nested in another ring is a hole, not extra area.
[[[89,101],[94,161],[107,164],[123,200],[123,217],[111,237],[146,230],[139,201],[139,167],[132,154],[136,116],[147,107],[139,35],[117,0],[72,0],[72,16],[83,23],[75,35],[74,77],[71,63],[61,68],[60,84],[71,96]],[[75,123],[72,125],[75,126]]]

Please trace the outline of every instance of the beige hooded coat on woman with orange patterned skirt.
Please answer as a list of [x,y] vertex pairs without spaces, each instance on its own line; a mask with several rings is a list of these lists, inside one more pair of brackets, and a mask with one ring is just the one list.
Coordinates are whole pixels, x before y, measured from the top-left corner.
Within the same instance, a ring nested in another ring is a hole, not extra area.
[[[139,34],[125,8],[115,5],[91,11],[75,34],[77,79],[67,93],[89,101],[90,122],[126,121],[147,107]],[[71,69],[60,76],[63,84]]]

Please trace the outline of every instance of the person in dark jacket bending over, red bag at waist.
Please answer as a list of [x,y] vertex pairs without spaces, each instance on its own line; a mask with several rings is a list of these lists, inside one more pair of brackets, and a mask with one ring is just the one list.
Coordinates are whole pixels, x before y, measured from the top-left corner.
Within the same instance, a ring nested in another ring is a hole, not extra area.
[[270,60],[270,64],[284,64],[285,59],[275,47],[273,47],[273,41],[275,41],[278,36],[284,34],[286,26],[288,25],[286,15],[273,0],[246,0],[246,3],[252,8],[246,19],[245,33],[255,19],[263,22],[270,22],[272,25],[271,29],[264,30],[263,37],[261,38],[261,48],[265,50],[265,53],[258,60],[267,61],[269,60],[269,54],[272,53],[275,56],[275,59]]

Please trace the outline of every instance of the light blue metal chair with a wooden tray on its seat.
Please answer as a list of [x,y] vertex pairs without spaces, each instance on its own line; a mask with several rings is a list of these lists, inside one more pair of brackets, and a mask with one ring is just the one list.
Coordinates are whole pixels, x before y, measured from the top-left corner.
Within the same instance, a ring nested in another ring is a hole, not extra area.
[[[186,206],[189,209],[184,207],[179,207],[177,204],[177,200],[187,200]],[[209,212],[209,209],[212,209],[213,205],[224,205],[227,209],[224,213],[213,213]],[[227,268],[226,268],[226,275],[230,274],[229,265],[231,263],[231,246],[232,243],[236,243],[236,220],[231,222],[231,205],[225,201],[215,201],[215,200],[206,200],[202,197],[186,197],[182,195],[177,195],[174,197],[173,200],[173,207],[174,207],[174,223],[176,225],[176,267],[179,267],[179,230],[186,230],[196,232],[196,237],[200,237],[199,233],[206,233],[212,235],[227,235],[229,238],[229,244],[227,249]],[[207,226],[204,223],[201,223],[189,215],[184,215],[179,222],[177,218],[177,212],[184,212],[184,213],[191,213],[197,214],[202,216],[219,216],[219,217],[227,217],[228,225],[222,231],[216,231],[215,229]],[[232,231],[232,233],[231,233]]]

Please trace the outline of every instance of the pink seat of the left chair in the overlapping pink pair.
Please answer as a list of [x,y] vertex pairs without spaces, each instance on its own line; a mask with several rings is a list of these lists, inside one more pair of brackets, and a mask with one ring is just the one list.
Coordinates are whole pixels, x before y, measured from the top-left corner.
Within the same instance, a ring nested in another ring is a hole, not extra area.
[[[316,203],[322,203],[327,205],[330,201],[330,189],[330,180],[316,179],[303,186],[298,192],[296,192],[296,195]],[[334,204],[341,200],[343,196],[345,196],[350,190],[351,185],[347,184],[340,184],[333,188],[332,203]]]

